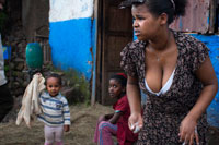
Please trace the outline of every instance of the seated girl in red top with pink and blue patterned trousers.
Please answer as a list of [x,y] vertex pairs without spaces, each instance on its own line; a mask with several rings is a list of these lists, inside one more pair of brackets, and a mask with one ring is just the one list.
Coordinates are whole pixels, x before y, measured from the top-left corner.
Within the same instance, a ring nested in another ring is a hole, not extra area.
[[117,101],[113,105],[114,113],[99,118],[94,134],[94,142],[99,145],[113,145],[112,136],[117,137],[119,145],[131,145],[137,141],[138,134],[128,128],[130,108],[126,96],[127,77],[118,73],[110,78],[108,92]]

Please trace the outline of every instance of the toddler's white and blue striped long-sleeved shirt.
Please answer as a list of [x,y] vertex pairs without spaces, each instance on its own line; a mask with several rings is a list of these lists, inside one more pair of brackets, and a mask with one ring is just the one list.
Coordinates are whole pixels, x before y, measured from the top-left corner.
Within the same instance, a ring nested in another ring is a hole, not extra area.
[[43,113],[38,116],[39,121],[43,121],[49,126],[70,125],[68,101],[60,93],[51,97],[47,92],[43,92],[39,96],[39,102],[43,110]]

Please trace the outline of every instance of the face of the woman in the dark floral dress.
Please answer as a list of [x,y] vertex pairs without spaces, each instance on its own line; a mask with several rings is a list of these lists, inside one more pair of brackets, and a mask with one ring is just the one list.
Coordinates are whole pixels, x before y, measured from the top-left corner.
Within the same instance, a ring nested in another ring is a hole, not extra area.
[[159,16],[151,14],[145,4],[134,4],[131,14],[134,16],[134,32],[138,39],[152,39],[160,28]]

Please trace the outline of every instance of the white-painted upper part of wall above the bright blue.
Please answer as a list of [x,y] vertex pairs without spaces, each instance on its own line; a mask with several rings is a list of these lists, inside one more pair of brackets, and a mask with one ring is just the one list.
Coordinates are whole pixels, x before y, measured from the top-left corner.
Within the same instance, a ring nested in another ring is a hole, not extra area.
[[91,17],[94,0],[49,0],[49,22]]

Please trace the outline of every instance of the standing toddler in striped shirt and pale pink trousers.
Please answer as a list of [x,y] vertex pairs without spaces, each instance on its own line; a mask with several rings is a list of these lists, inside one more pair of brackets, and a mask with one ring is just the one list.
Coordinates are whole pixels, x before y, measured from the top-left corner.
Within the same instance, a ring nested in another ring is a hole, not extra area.
[[61,77],[58,74],[50,74],[46,78],[46,90],[39,96],[43,113],[38,120],[45,123],[45,144],[62,145],[62,133],[70,130],[70,111],[67,99],[59,93]]

